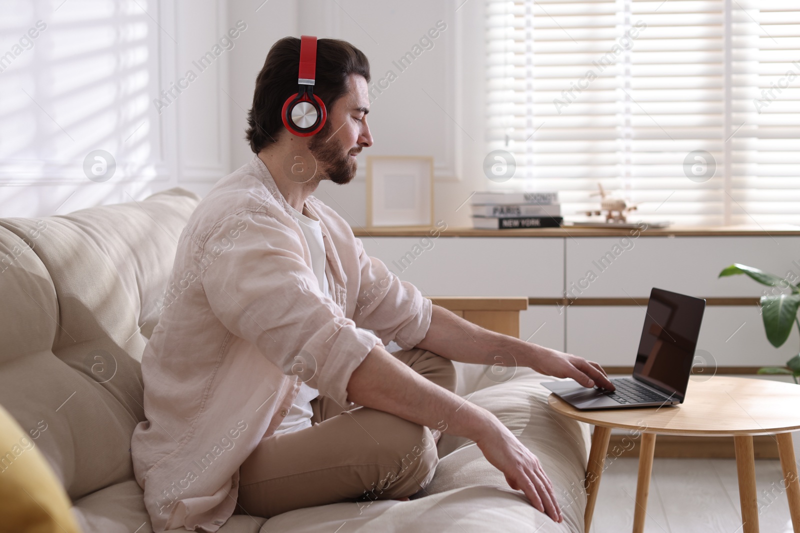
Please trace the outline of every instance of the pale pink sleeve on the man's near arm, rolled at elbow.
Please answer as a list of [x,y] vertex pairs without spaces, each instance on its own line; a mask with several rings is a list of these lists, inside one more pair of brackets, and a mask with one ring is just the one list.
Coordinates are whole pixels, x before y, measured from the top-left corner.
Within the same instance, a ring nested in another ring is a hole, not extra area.
[[322,294],[298,234],[269,214],[245,212],[198,245],[201,257],[215,257],[200,274],[214,316],[287,376],[350,404],[350,375],[380,340]]

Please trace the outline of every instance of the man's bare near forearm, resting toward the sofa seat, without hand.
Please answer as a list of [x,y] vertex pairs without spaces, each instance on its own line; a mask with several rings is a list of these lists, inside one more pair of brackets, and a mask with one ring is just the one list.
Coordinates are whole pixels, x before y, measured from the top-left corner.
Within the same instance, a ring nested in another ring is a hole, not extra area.
[[377,344],[350,376],[347,399],[472,440],[499,424],[486,409],[426,380]]

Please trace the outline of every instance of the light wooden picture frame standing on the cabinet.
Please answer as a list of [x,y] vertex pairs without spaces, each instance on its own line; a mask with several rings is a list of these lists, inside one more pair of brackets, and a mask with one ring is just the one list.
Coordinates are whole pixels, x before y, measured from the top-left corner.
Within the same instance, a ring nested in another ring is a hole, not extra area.
[[434,225],[434,158],[366,157],[366,227]]

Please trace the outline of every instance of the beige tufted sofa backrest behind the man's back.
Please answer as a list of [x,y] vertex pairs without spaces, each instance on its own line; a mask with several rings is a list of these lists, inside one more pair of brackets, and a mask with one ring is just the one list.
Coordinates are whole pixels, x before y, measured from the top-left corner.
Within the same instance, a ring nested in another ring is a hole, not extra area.
[[[37,432],[72,499],[133,479],[130,436],[144,420],[139,361],[198,200],[170,189],[66,216],[0,219],[6,248],[23,239],[32,248],[0,273],[3,299],[12,298],[2,307],[25,316],[17,320],[26,332],[0,325],[4,341],[16,338],[0,348],[0,404]],[[16,284],[30,296],[7,289]]]

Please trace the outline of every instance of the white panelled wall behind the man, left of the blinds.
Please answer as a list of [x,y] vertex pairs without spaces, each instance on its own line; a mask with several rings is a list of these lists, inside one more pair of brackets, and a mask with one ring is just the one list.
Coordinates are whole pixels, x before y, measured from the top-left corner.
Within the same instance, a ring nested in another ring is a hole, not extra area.
[[[0,54],[12,56],[0,72],[0,217],[70,213],[174,186],[205,195],[252,157],[243,138],[246,111],[272,43],[315,34],[361,48],[370,58],[371,86],[388,70],[397,75],[382,93],[373,92],[375,144],[359,156],[356,179],[323,183],[316,196],[350,224],[363,225],[368,154],[433,156],[434,217],[469,225],[464,202],[486,180],[484,5],[462,2],[3,2]],[[14,55],[14,44],[39,20],[46,30],[30,50]],[[438,21],[446,30],[401,72],[393,61],[413,52]],[[238,22],[246,29],[221,46]],[[215,45],[222,52],[201,71],[196,62]],[[163,98],[160,91],[172,83],[184,89]],[[94,149],[117,163],[107,181],[84,173]]]

